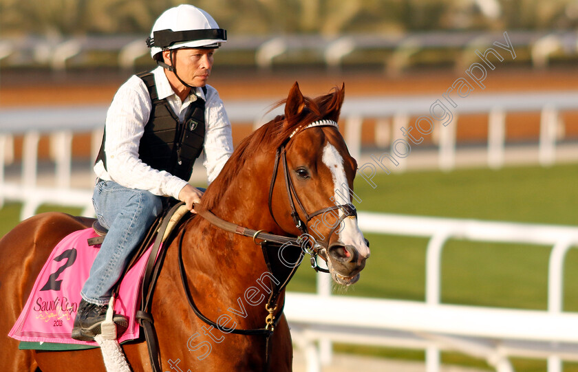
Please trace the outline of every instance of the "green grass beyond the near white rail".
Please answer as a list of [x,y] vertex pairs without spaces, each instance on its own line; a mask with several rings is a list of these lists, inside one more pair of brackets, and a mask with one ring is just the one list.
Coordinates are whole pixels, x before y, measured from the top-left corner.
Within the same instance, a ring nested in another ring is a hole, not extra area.
[[[377,175],[376,188],[358,177],[359,210],[578,226],[578,164],[550,168],[520,167]],[[43,206],[42,210],[54,210]],[[58,210],[62,210],[61,208]],[[72,214],[80,210],[64,210]],[[16,223],[18,204],[0,210],[0,235]],[[367,234],[372,256],[361,280],[345,296],[405,300],[425,298],[427,239]],[[442,302],[465,305],[546,309],[548,256],[551,247],[450,240],[442,255]],[[568,252],[564,309],[578,311],[578,250]],[[315,274],[304,261],[288,289],[315,292]],[[342,291],[339,291],[341,294]],[[363,314],[363,309],[360,309]],[[422,359],[422,351],[354,347],[337,344],[336,351]],[[485,362],[444,353],[449,363],[484,367]],[[544,371],[544,361],[515,359],[516,371]],[[565,364],[564,371],[578,371]]]

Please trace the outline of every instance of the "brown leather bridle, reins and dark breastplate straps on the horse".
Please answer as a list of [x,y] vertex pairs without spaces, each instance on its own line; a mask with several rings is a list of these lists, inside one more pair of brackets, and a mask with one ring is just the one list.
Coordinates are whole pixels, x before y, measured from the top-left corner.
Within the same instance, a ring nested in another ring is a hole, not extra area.
[[[269,188],[268,207],[269,207],[269,212],[271,214],[272,219],[275,221],[275,223],[277,223],[277,221],[275,220],[275,216],[273,215],[273,212],[272,212],[272,193],[273,193],[273,188],[275,187],[275,179],[277,178],[279,163],[281,163],[281,164],[283,164],[283,172],[284,172],[284,177],[285,177],[286,190],[287,190],[287,195],[289,198],[289,205],[291,208],[291,217],[293,219],[293,222],[295,223],[295,226],[299,229],[299,231],[301,231],[303,234],[307,234],[307,237],[312,239],[312,241],[310,241],[310,244],[311,244],[310,245],[310,251],[308,251],[308,253],[311,254],[312,267],[317,271],[329,272],[329,270],[326,270],[326,269],[323,269],[323,268],[317,266],[317,261],[316,261],[317,254],[322,256],[323,259],[327,259],[327,252],[329,249],[329,243],[328,242],[329,242],[330,237],[336,231],[336,228],[341,225],[341,222],[343,221],[343,219],[345,219],[346,217],[348,217],[350,215],[354,215],[356,217],[357,213],[356,213],[354,206],[352,206],[352,204],[339,204],[339,205],[329,206],[327,208],[322,208],[320,210],[317,210],[317,211],[309,214],[307,212],[306,208],[303,206],[301,199],[299,199],[299,197],[297,196],[297,192],[295,190],[295,185],[293,184],[292,179],[291,179],[290,174],[289,174],[289,168],[288,168],[287,157],[286,157],[286,145],[289,142],[289,140],[291,138],[293,138],[297,133],[300,133],[301,131],[303,131],[305,129],[313,128],[313,127],[339,128],[337,123],[334,122],[333,120],[318,120],[318,121],[312,122],[308,125],[305,125],[305,126],[302,126],[302,127],[295,129],[295,131],[293,131],[291,133],[289,138],[285,142],[283,142],[283,144],[281,144],[279,146],[279,148],[277,148],[277,153],[275,155],[275,165],[274,165],[274,170],[273,170],[273,174],[271,177],[271,183],[270,183],[270,188]],[[301,209],[301,213],[305,217],[305,222],[303,222],[303,220],[301,219],[301,217],[299,215],[299,212],[297,212],[297,208],[295,208],[294,198],[295,198],[295,201],[297,201],[297,205]],[[210,223],[212,223],[213,225],[215,225],[219,228],[222,228],[222,229],[229,231],[229,232],[234,232],[235,234],[241,234],[245,237],[253,237],[253,242],[255,242],[255,244],[261,245],[261,249],[263,251],[264,259],[265,259],[265,262],[266,262],[266,265],[268,267],[269,272],[271,272],[272,270],[271,270],[270,259],[268,256],[268,249],[270,249],[270,248],[279,249],[280,246],[285,245],[287,243],[292,243],[292,245],[299,245],[296,243],[295,237],[284,237],[282,235],[271,234],[271,233],[265,232],[264,230],[252,230],[250,228],[245,228],[243,226],[236,225],[235,223],[224,221],[223,219],[220,219],[220,217],[217,217],[216,215],[214,215],[213,212],[211,212],[210,210],[205,210],[204,208],[202,208],[202,206],[200,206],[200,208],[195,207],[195,209],[197,210],[198,214],[201,215],[201,217],[203,217],[204,219],[206,219],[207,221],[209,221]],[[332,227],[332,230],[331,230],[329,237],[327,239],[327,243],[320,245],[319,243],[317,243],[317,241],[313,237],[311,237],[310,234],[308,234],[307,223],[309,221],[311,221],[311,219],[313,217],[323,215],[323,213],[325,213],[325,212],[332,211],[332,210],[338,210],[338,209],[341,209],[341,210],[345,211],[346,213],[343,213],[341,216],[339,216],[339,218],[335,222],[335,226]],[[279,225],[279,223],[277,223],[277,225]],[[178,248],[179,248],[178,258],[179,258],[180,275],[181,275],[181,280],[182,280],[184,292],[186,294],[186,298],[189,301],[189,305],[191,306],[191,308],[193,309],[195,314],[201,320],[206,322],[206,324],[208,324],[208,325],[212,325],[215,328],[220,328],[220,326],[217,325],[217,323],[213,322],[212,320],[210,320],[206,316],[204,316],[204,314],[202,314],[200,309],[195,304],[195,301],[193,300],[193,296],[191,295],[191,291],[189,289],[189,283],[188,283],[187,278],[186,278],[184,263],[182,261],[182,243],[183,243],[183,239],[184,239],[185,229],[186,229],[186,227],[182,229],[181,234],[180,234],[180,239],[179,239],[179,243],[178,243]],[[257,243],[257,239],[260,240],[259,243]],[[299,238],[297,238],[297,241],[299,241]],[[275,331],[275,327],[277,326],[279,320],[281,319],[281,314],[283,314],[283,307],[285,306],[285,304],[283,303],[283,305],[281,305],[281,309],[279,309],[277,314],[275,314],[277,311],[277,300],[279,299],[279,295],[281,294],[281,292],[283,292],[283,289],[285,289],[286,285],[289,283],[293,274],[295,274],[297,267],[299,267],[299,264],[301,263],[301,260],[303,258],[303,254],[304,254],[304,252],[302,250],[300,252],[299,259],[295,262],[294,266],[290,267],[291,271],[288,274],[288,276],[285,278],[283,283],[281,283],[281,285],[275,286],[274,283],[271,281],[273,288],[271,289],[269,299],[265,305],[265,308],[268,311],[268,316],[266,316],[266,320],[265,320],[265,327],[264,328],[258,328],[258,329],[232,329],[232,330],[228,329],[227,330],[227,333],[265,336],[265,338],[266,338],[266,359],[265,359],[264,368],[266,371],[269,370],[269,365],[270,365],[270,352],[272,349],[272,337],[271,336],[273,334],[273,331]]]

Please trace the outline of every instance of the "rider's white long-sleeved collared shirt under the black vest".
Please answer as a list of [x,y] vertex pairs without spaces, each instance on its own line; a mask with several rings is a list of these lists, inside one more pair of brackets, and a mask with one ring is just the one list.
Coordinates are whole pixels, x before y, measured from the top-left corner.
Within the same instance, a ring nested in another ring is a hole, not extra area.
[[[206,85],[206,96],[200,88],[191,89],[191,94],[181,102],[171,88],[164,69],[157,67],[153,74],[158,98],[167,98],[181,122],[191,102],[197,99],[205,100],[203,166],[210,184],[233,152],[231,122],[223,101],[215,88]],[[180,190],[188,180],[153,169],[138,157],[140,138],[149,121],[151,108],[147,86],[138,76],[132,76],[118,89],[108,109],[105,124],[107,168],[99,161],[94,166],[94,172],[100,179],[114,181],[127,188],[149,190],[155,195],[168,195],[178,199]]]

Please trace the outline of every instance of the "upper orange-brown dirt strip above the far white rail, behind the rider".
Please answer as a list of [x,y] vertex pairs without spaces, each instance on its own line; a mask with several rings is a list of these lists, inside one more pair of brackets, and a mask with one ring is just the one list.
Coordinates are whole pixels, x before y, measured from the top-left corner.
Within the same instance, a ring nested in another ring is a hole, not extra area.
[[[386,94],[442,94],[463,76],[453,72],[408,72],[398,78],[388,78],[379,72],[328,74],[325,72],[214,72],[209,80],[226,102],[237,98],[270,98],[272,102],[286,97],[296,80],[303,94],[316,96],[332,87],[345,83],[347,96]],[[39,78],[19,78],[10,74],[1,76],[0,106],[107,103],[114,96],[125,76],[96,73],[85,78],[66,78],[47,75]],[[19,86],[19,80],[25,81]],[[531,69],[497,67],[489,71],[484,93],[496,91],[572,90],[578,88],[578,70],[561,69],[540,72]],[[480,89],[475,94],[480,94]],[[346,98],[347,99],[347,98]]]

